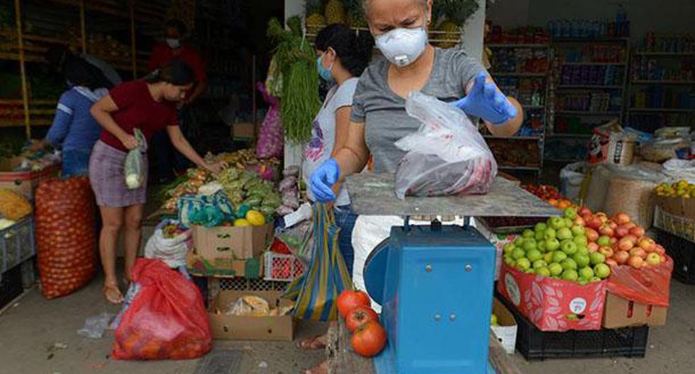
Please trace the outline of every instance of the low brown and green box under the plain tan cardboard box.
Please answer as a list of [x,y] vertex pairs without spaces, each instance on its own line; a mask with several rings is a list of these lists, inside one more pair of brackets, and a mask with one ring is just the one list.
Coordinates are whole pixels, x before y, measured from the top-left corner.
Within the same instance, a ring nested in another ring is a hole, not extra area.
[[194,251],[186,254],[186,265],[194,276],[218,278],[257,279],[263,275],[263,261],[260,259],[205,259]]

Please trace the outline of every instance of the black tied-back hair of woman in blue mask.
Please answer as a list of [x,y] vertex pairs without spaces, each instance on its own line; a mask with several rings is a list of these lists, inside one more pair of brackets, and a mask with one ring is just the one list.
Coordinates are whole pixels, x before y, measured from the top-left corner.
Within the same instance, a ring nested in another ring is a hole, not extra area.
[[316,48],[326,51],[333,48],[340,63],[353,77],[360,77],[372,60],[374,38],[367,31],[350,30],[345,25],[333,23],[318,32]]

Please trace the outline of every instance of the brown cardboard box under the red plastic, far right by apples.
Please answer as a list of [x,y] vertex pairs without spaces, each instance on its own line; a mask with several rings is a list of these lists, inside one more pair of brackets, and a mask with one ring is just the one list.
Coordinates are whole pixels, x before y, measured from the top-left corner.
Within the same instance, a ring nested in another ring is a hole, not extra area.
[[663,326],[666,324],[668,310],[667,307],[640,304],[608,292],[606,305],[604,305],[603,325],[607,329],[644,325]]

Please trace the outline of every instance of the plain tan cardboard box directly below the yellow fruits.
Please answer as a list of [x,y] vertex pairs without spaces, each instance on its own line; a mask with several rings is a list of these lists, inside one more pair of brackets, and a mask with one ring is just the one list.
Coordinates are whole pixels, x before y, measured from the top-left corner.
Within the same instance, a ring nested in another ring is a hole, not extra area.
[[193,227],[193,246],[196,253],[208,260],[255,259],[273,239],[273,225],[246,227]]

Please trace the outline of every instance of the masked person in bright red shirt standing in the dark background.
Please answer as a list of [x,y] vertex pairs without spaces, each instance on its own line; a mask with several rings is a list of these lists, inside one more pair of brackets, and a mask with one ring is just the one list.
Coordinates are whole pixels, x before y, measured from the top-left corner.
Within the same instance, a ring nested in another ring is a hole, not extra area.
[[[196,98],[205,92],[207,87],[208,77],[205,72],[205,66],[198,52],[183,42],[186,35],[186,25],[177,19],[167,21],[165,30],[165,41],[155,45],[148,63],[148,70],[153,72],[167,64],[167,62],[177,59],[181,60],[191,70],[193,70],[196,84],[194,89],[186,94],[186,98],[179,103],[179,125],[184,135],[193,138],[191,134],[191,111],[188,106],[193,103]],[[153,152],[155,154],[157,165],[157,177],[164,182],[174,177],[174,173],[183,172],[190,165],[189,161],[182,154],[172,147],[169,137],[166,132],[157,134],[152,139]]]

